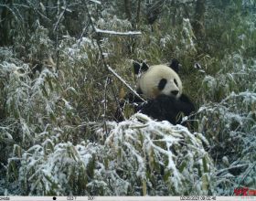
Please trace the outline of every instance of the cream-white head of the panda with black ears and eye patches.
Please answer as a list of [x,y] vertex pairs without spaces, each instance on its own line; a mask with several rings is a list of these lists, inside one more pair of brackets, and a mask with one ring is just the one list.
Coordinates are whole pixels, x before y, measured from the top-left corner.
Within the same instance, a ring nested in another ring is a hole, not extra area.
[[182,94],[182,82],[177,74],[178,61],[173,59],[167,65],[147,66],[133,62],[134,73],[139,76],[137,87],[146,98],[155,99],[161,94],[179,98]]

